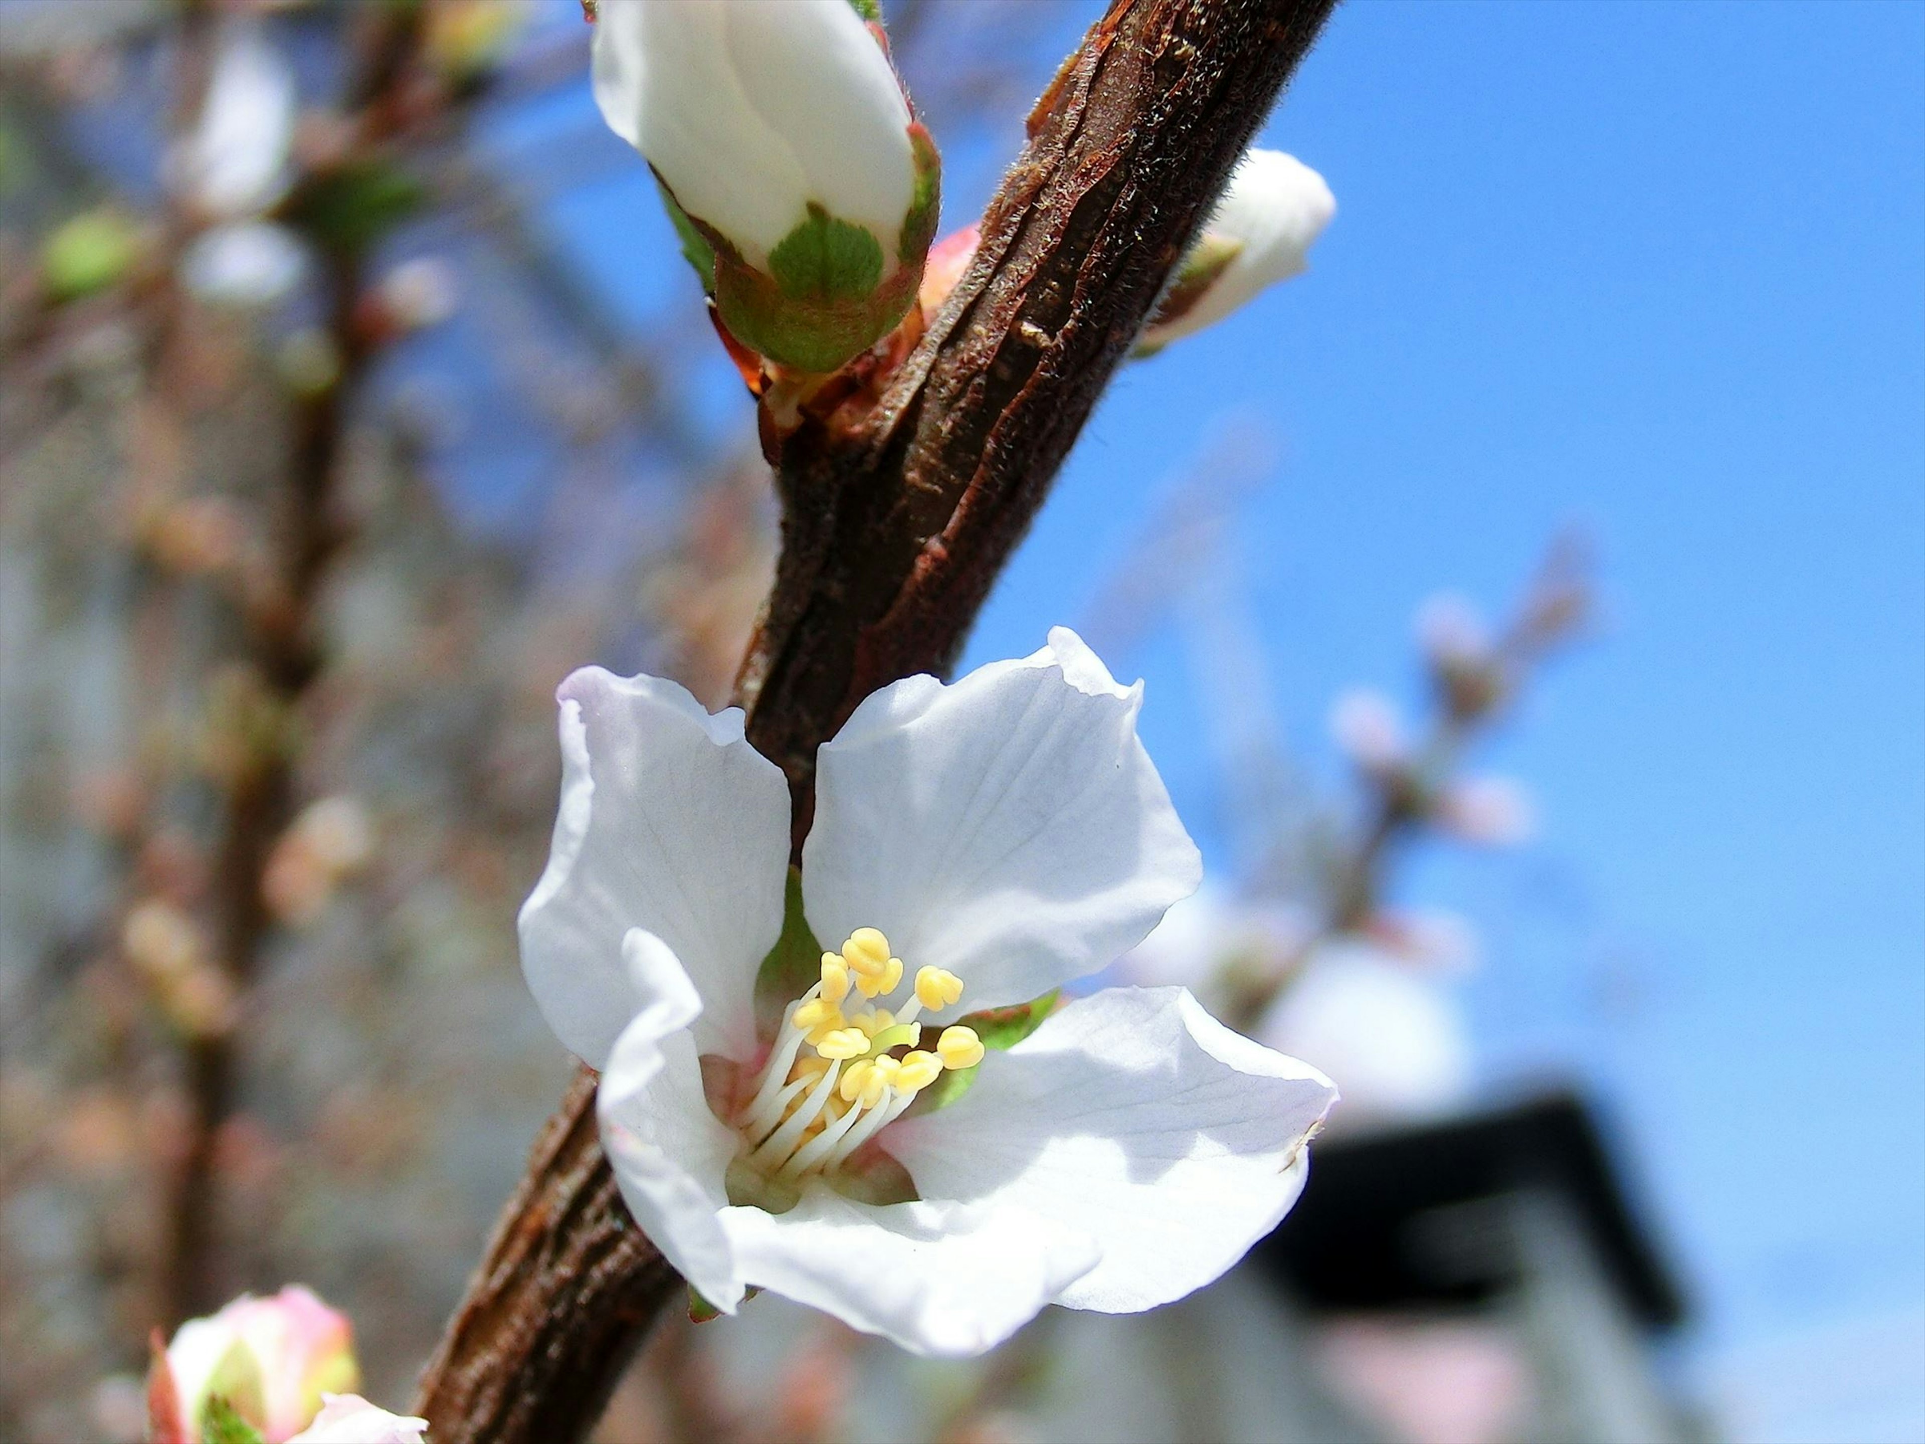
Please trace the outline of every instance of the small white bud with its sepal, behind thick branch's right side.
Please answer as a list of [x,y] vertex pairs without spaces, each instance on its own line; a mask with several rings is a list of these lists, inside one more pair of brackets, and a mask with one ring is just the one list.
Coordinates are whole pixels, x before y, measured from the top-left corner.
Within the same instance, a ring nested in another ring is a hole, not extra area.
[[1336,196],[1301,160],[1282,150],[1244,152],[1209,223],[1178,262],[1140,350],[1195,335],[1261,291],[1301,275],[1332,216]]

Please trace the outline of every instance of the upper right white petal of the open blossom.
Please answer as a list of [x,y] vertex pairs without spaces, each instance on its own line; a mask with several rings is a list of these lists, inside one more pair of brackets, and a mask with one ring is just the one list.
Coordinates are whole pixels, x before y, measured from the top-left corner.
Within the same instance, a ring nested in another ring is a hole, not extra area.
[[882,928],[911,976],[961,976],[962,1001],[932,1019],[1024,1003],[1140,943],[1203,876],[1140,705],[1066,628],[955,685],[868,697],[816,755],[816,938]]

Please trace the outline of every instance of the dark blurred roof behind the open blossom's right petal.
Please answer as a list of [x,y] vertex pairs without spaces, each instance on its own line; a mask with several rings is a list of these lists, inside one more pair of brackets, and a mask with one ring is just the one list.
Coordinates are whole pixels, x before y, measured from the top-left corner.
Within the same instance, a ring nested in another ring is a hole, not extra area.
[[1630,1313],[1684,1317],[1677,1280],[1632,1213],[1582,1099],[1552,1094],[1424,1126],[1332,1138],[1311,1149],[1311,1182],[1253,1261],[1311,1307],[1471,1303],[1507,1282],[1503,1251],[1446,1248],[1440,1219],[1517,1192],[1571,1209]]

